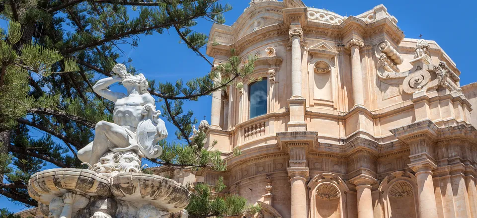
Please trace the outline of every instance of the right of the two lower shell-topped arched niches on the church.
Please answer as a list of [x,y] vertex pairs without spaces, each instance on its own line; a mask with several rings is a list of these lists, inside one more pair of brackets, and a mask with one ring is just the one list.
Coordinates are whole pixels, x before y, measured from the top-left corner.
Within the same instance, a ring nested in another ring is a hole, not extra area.
[[417,218],[418,196],[416,177],[405,171],[386,176],[379,185],[384,218]]

